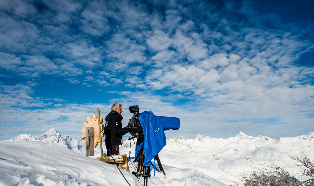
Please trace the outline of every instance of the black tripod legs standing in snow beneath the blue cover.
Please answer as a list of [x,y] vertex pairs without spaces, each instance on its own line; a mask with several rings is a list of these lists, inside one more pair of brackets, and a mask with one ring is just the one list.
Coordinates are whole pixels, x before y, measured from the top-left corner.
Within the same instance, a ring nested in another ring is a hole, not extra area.
[[[138,177],[138,178],[140,178],[141,176],[144,177],[143,186],[147,186],[148,178],[150,178],[150,165],[149,166],[143,166],[144,158],[145,158],[144,153],[143,152],[139,153],[139,155],[138,155],[138,168],[137,168],[136,177]],[[154,157],[154,160],[157,161],[157,164],[160,168],[160,171],[162,171],[164,173],[164,175],[166,176],[165,171],[161,165],[158,154]],[[152,162],[151,162],[151,165],[153,165]],[[160,171],[156,167],[155,167],[155,170],[157,170],[160,173]]]

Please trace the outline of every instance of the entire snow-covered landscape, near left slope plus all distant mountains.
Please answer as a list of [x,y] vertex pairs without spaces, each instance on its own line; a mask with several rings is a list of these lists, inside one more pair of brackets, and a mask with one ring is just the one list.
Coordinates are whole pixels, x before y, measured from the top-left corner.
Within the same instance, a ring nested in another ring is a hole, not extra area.
[[[124,141],[120,147],[120,154],[131,158],[130,172],[137,166],[132,163],[135,143]],[[54,129],[39,136],[22,134],[0,141],[0,185],[128,185],[116,166],[93,159],[96,157],[100,157],[100,145],[94,157],[85,157],[84,141],[62,138]],[[227,139],[176,137],[167,140],[159,157],[166,176],[157,171],[154,176],[151,169],[148,185],[241,186],[254,185],[249,184],[252,180],[260,183],[265,177],[311,185],[314,132],[278,140],[241,131]],[[138,182],[133,174],[120,170],[130,185],[143,185],[142,178]]]

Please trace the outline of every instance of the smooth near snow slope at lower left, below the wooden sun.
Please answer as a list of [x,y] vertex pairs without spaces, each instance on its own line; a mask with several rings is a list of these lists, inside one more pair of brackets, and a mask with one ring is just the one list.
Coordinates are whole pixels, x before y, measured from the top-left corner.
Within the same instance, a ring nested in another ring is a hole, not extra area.
[[[127,185],[117,167],[79,155],[60,143],[0,141],[0,185]],[[123,169],[131,185],[136,177]]]

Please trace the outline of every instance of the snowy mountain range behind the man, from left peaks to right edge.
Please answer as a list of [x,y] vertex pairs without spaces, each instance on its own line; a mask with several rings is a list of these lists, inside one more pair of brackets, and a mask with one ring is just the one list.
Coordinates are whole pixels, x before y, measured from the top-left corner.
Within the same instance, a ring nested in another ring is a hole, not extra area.
[[[70,136],[62,138],[54,129],[36,137],[19,135],[11,140],[60,143],[85,155],[84,141]],[[134,144],[135,141],[124,141],[120,153],[134,158]],[[103,148],[106,152],[106,147]],[[95,148],[95,155],[100,157],[100,146]],[[149,185],[314,184],[314,132],[279,139],[247,136],[241,131],[227,139],[202,135],[187,139],[181,136],[167,140],[159,157],[166,178],[156,173],[149,180]],[[132,161],[129,163],[132,172],[136,164]],[[154,174],[153,169],[151,174]]]

